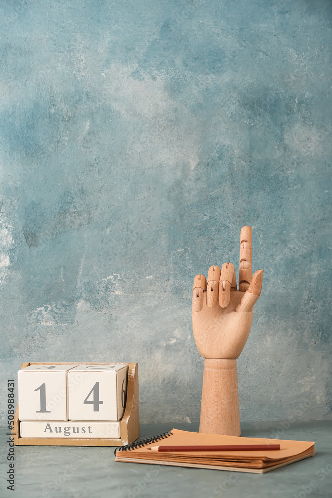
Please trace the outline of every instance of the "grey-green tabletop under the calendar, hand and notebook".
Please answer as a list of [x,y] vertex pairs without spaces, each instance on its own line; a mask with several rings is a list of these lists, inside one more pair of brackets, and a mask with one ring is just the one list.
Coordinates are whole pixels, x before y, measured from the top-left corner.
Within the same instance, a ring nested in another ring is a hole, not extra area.
[[[332,422],[243,423],[242,436],[315,441],[316,455],[266,474],[114,462],[114,448],[15,447],[15,492],[7,490],[8,443],[1,429],[0,497],[218,498],[332,496]],[[283,427],[284,426],[284,427]],[[141,425],[141,438],[173,424]],[[197,431],[196,424],[176,428]]]

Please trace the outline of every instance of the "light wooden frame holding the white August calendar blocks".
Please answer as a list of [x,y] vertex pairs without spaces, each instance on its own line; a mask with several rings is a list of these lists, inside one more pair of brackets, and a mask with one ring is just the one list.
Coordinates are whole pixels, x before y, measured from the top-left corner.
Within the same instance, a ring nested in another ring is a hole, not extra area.
[[18,446],[124,446],[139,437],[139,398],[138,398],[138,363],[126,362],[27,362],[21,369],[29,365],[107,365],[109,363],[125,363],[128,366],[127,400],[121,420],[121,438],[38,438],[20,437],[20,421],[18,405],[15,412],[12,436]]

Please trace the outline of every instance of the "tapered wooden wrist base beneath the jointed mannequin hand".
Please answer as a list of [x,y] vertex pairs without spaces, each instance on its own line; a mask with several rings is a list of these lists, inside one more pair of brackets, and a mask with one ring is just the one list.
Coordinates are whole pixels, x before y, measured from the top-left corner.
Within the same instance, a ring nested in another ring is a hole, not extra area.
[[241,435],[236,360],[204,360],[200,432]]

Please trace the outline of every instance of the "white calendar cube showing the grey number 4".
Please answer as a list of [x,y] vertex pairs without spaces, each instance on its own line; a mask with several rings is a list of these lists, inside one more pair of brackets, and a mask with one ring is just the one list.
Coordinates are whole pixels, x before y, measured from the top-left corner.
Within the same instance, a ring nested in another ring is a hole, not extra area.
[[127,397],[127,376],[126,364],[78,365],[71,369],[69,420],[120,420]]

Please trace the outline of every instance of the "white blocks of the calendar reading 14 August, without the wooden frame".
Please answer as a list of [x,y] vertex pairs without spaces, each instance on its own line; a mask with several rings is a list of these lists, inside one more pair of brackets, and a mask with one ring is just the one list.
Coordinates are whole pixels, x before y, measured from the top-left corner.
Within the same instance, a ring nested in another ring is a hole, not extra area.
[[126,364],[35,364],[18,371],[20,437],[121,438]]

